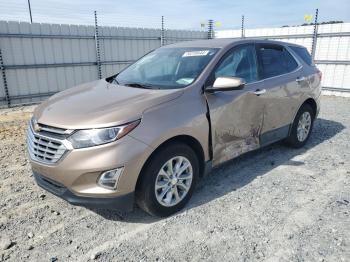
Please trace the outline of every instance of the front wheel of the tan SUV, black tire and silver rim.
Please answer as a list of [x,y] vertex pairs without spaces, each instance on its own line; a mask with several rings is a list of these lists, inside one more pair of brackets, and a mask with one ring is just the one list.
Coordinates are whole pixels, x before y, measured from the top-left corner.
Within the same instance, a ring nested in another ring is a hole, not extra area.
[[[169,171],[169,163],[173,166],[172,170],[180,171],[188,163],[190,166],[178,176],[176,172]],[[199,161],[191,147],[183,143],[169,144],[156,152],[144,168],[136,188],[136,203],[153,216],[170,216],[180,211],[190,200],[198,177]],[[162,188],[156,190],[156,182]],[[186,193],[185,188],[188,188]]]

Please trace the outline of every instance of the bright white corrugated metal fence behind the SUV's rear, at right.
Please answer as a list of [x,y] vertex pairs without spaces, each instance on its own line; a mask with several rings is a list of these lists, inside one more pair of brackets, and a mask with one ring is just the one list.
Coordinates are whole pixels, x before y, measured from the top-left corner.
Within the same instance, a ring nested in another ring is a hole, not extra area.
[[[264,37],[305,46],[311,52],[313,26],[246,29],[245,37]],[[217,38],[241,37],[241,30],[222,30]],[[315,53],[326,89],[350,91],[350,23],[318,26]]]

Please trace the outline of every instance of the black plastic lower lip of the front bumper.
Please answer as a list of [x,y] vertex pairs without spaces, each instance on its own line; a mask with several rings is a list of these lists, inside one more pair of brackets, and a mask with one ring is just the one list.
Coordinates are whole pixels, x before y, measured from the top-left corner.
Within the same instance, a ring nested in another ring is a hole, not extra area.
[[90,208],[115,209],[120,211],[131,211],[134,205],[134,193],[119,195],[117,197],[85,197],[72,193],[64,185],[57,183],[47,177],[33,172],[36,183],[48,192],[58,196],[72,205]]

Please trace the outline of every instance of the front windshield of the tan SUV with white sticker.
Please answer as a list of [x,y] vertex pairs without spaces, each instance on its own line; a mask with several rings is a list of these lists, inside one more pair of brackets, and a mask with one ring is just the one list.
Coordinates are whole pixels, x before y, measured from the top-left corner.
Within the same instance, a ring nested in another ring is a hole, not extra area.
[[171,89],[191,84],[218,49],[160,48],[145,55],[114,79],[120,85]]

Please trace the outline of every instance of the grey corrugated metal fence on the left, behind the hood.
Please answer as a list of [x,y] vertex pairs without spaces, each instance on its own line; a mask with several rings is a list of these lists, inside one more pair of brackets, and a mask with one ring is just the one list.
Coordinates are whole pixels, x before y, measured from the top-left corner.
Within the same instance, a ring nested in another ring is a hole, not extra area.
[[[102,77],[160,46],[160,29],[99,27],[98,32]],[[97,79],[94,35],[93,26],[0,21],[0,49],[11,104],[38,102]],[[166,30],[164,43],[203,38],[206,32]],[[1,78],[0,106],[5,106]]]

